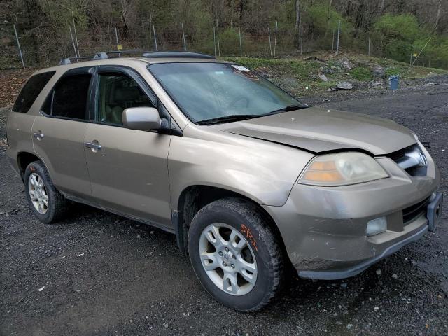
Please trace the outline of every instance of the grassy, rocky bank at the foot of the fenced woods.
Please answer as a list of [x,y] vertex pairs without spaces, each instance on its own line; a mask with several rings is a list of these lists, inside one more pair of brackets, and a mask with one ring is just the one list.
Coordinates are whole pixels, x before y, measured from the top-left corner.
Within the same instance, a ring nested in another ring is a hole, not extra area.
[[[400,76],[400,87],[412,87],[419,83],[421,78],[448,73],[441,69],[409,66],[391,59],[356,54],[337,56],[330,52],[276,59],[251,57],[221,57],[221,59],[257,71],[296,97],[388,90],[388,76],[391,75]],[[0,72],[1,83],[4,83],[0,86],[0,107],[12,106],[22,84],[36,70]],[[353,89],[337,90],[337,85],[341,82],[351,83]]]

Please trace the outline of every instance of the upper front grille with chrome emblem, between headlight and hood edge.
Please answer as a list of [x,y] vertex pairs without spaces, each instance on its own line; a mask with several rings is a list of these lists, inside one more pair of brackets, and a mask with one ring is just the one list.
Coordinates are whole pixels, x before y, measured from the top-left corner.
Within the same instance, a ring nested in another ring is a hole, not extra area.
[[427,158],[418,144],[393,152],[388,157],[402,167],[410,176],[426,176]]

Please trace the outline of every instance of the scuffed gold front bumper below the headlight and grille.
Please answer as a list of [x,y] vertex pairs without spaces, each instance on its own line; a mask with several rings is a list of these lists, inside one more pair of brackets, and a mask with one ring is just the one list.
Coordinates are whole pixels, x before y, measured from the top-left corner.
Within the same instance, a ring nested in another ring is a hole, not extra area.
[[[428,160],[427,176],[416,177],[389,158],[378,162],[388,179],[326,188],[296,184],[283,207],[265,207],[300,276],[356,275],[428,231],[426,212],[403,223],[403,209],[433,195],[440,180],[433,161]],[[367,222],[381,216],[387,218],[386,232],[367,237]]]

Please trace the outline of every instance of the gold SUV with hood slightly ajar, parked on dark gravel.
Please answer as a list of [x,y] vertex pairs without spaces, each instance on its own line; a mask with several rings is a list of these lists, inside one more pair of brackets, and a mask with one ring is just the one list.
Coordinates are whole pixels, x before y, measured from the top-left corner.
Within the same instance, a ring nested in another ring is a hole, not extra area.
[[8,115],[34,215],[72,200],[172,232],[228,307],[265,306],[286,269],[354,276],[442,215],[432,158],[390,120],[307,106],[207,55],[79,61],[34,73]]

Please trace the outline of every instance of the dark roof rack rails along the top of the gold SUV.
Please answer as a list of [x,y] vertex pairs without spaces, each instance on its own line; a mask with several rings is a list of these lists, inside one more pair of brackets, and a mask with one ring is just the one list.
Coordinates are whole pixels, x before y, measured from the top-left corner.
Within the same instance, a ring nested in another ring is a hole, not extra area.
[[71,64],[71,61],[87,61],[87,60],[92,60],[92,59],[108,59],[109,55],[118,55],[118,57],[121,57],[122,54],[141,54],[141,57],[145,57],[145,58],[188,57],[188,58],[216,59],[216,57],[214,57],[214,56],[201,54],[200,52],[120,50],[120,51],[98,52],[93,57],[92,56],[85,56],[85,57],[62,58],[59,61],[59,65]]

